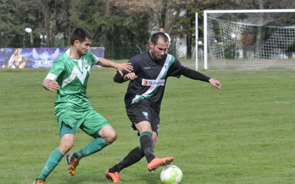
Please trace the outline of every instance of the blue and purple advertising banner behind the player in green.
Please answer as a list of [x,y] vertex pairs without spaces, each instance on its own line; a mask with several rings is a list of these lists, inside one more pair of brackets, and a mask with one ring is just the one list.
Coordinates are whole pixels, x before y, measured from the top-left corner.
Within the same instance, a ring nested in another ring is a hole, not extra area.
[[[0,68],[50,68],[69,48],[0,48]],[[92,47],[97,57],[104,57],[103,47]]]

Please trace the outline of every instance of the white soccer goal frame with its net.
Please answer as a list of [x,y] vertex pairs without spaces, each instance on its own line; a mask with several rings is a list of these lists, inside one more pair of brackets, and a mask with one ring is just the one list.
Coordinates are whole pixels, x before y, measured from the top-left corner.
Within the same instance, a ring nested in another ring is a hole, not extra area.
[[[198,70],[198,13],[195,16]],[[204,69],[209,67],[208,59],[215,67],[225,68],[228,56],[232,57],[230,59],[246,58],[241,69],[268,68],[293,46],[294,17],[295,9],[204,10]],[[245,57],[239,56],[241,53]]]

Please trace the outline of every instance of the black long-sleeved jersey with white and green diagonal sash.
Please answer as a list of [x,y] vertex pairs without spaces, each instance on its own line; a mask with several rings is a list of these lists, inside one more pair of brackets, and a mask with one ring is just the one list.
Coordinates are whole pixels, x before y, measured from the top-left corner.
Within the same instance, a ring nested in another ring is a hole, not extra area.
[[[149,52],[143,52],[132,57],[129,62],[133,66],[133,71],[137,78],[131,80],[125,94],[125,106],[137,102],[148,103],[157,112],[160,112],[166,81],[170,76],[179,78],[181,75],[191,79],[209,81],[209,77],[197,71],[191,70],[181,65],[178,59],[170,54],[165,54],[161,60],[155,61]],[[127,72],[123,71],[126,75]],[[125,82],[124,75],[117,73],[115,82]]]

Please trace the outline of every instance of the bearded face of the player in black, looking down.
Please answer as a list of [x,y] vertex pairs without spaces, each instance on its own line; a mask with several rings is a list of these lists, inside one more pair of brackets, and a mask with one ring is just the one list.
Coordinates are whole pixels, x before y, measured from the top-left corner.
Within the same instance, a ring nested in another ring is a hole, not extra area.
[[153,42],[150,42],[151,57],[156,61],[161,60],[165,52],[167,51],[167,48],[168,42],[165,42],[163,38],[159,38],[157,44],[155,45],[153,44]]

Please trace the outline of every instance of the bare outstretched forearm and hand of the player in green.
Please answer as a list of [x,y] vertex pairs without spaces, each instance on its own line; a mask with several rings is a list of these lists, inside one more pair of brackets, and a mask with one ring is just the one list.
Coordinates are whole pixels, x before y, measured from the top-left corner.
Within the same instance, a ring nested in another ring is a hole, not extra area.
[[123,73],[122,71],[127,71],[127,72],[131,72],[133,71],[133,67],[131,66],[131,63],[115,63],[115,62],[112,62],[108,59],[104,59],[104,58],[99,58],[99,61],[98,63],[100,66],[102,67],[113,67],[113,68],[116,68],[119,73],[121,74],[121,76],[123,76]]

